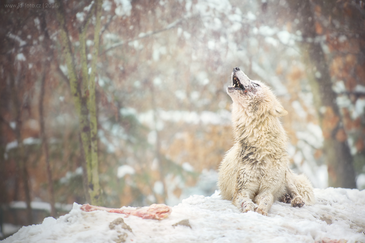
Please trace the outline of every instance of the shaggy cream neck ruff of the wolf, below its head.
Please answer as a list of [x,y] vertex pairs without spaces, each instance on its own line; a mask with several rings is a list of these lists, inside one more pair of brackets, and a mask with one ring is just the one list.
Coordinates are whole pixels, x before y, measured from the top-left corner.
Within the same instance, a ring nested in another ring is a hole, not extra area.
[[255,154],[255,158],[265,161],[266,156],[280,158],[287,155],[288,137],[278,118],[269,111],[261,115],[256,112],[232,104],[233,135],[235,143],[242,146],[241,158],[245,160],[248,155]]

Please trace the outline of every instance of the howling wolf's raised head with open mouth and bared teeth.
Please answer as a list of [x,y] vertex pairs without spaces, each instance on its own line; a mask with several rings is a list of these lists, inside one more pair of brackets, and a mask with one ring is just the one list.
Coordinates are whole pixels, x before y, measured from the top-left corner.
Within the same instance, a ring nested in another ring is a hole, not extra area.
[[269,113],[273,116],[287,115],[271,89],[261,81],[250,80],[238,67],[232,72],[232,85],[227,87],[234,105],[241,106],[252,115]]

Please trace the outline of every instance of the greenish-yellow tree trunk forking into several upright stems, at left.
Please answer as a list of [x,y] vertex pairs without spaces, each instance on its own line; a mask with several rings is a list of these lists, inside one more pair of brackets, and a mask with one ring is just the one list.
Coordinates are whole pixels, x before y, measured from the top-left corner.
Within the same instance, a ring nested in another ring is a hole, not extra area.
[[[97,154],[97,119],[96,119],[96,101],[95,101],[95,74],[96,74],[96,62],[99,51],[99,32],[101,21],[101,0],[96,1],[96,24],[94,35],[94,47],[92,54],[91,74],[88,77],[86,72],[87,59],[85,58],[85,28],[87,28],[89,18],[88,16],[85,27],[81,30],[80,40],[80,59],[81,59],[81,71],[82,81],[84,87],[84,96],[82,96],[80,84],[78,82],[75,61],[72,53],[72,47],[70,38],[65,26],[65,17],[62,1],[58,1],[59,7],[57,8],[57,20],[60,26],[60,36],[62,49],[65,55],[65,61],[69,72],[69,83],[71,94],[74,100],[75,108],[79,116],[79,126],[81,133],[82,147],[84,149],[86,171],[88,176],[88,192],[90,195],[91,203],[94,205],[100,204],[101,189],[99,183],[98,172],[98,154]],[[94,8],[92,8],[94,9]]]

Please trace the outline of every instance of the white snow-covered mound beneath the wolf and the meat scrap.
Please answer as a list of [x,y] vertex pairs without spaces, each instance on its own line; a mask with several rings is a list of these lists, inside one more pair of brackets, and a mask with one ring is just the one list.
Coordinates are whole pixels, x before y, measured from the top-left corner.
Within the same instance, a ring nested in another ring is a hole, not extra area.
[[[84,212],[75,203],[65,216],[57,220],[47,217],[42,224],[24,226],[2,242],[365,243],[365,190],[315,189],[315,196],[316,204],[302,208],[275,202],[269,216],[262,216],[240,213],[218,192],[210,197],[195,195],[174,206],[171,215],[163,220]],[[114,221],[118,218],[124,223]],[[177,224],[182,220],[185,223]]]

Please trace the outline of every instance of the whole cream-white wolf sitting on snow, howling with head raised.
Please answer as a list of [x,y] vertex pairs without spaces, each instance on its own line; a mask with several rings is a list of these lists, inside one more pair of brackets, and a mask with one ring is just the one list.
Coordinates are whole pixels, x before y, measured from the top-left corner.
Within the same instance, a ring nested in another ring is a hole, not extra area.
[[308,178],[288,167],[288,137],[278,119],[288,112],[270,88],[235,67],[227,93],[233,100],[235,142],[218,170],[222,198],[232,200],[242,212],[262,215],[268,215],[274,200],[293,207],[313,204]]

